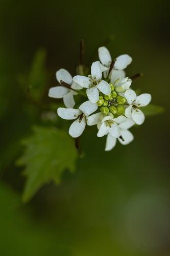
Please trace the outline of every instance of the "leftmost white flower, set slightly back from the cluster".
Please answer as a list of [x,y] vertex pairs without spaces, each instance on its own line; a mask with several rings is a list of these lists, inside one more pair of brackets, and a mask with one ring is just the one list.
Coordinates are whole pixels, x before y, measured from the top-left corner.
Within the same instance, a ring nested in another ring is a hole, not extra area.
[[[80,87],[79,84],[72,81],[72,76],[65,69],[58,70],[56,72],[56,78],[59,83],[62,80],[64,83],[68,84],[68,87],[70,86],[70,88],[74,90],[82,89],[82,87]],[[57,98],[57,99],[63,98],[66,108],[72,108],[75,105],[74,95],[78,94],[74,90],[71,90],[63,86],[56,86],[56,87],[50,88],[48,92],[48,96],[52,98]]]

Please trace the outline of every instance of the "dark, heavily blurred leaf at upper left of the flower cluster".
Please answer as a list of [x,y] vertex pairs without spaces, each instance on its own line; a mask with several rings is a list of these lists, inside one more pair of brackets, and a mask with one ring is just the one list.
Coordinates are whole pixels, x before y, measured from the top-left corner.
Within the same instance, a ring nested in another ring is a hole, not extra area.
[[37,50],[30,70],[18,76],[18,82],[23,90],[27,91],[29,89],[28,93],[37,103],[42,100],[49,77],[45,68],[45,60],[46,51],[44,49]]

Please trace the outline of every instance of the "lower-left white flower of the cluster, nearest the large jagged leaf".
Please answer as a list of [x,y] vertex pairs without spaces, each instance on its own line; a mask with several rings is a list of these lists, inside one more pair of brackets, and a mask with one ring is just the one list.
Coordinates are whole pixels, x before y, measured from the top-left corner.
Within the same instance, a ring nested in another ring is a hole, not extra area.
[[61,118],[67,120],[76,119],[78,116],[80,116],[70,125],[68,132],[70,136],[77,138],[83,133],[88,116],[97,109],[98,105],[96,103],[92,103],[91,101],[87,100],[79,106],[78,110],[59,108],[57,113]]

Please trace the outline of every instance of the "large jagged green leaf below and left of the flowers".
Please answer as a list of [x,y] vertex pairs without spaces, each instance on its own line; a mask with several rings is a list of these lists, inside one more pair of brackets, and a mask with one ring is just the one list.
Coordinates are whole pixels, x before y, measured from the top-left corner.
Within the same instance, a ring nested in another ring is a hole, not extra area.
[[22,141],[25,153],[17,165],[25,165],[27,176],[22,200],[27,202],[47,182],[60,184],[65,169],[76,170],[77,149],[68,133],[51,127],[33,127],[34,134]]

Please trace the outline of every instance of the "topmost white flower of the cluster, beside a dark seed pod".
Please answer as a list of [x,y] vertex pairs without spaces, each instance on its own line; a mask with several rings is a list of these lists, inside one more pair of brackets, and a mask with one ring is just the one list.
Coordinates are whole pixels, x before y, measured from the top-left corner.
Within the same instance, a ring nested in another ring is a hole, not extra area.
[[[99,48],[99,59],[102,63],[103,71],[105,71],[106,67],[108,71],[104,72],[104,77],[108,76],[108,72],[110,69],[110,65],[112,63],[112,58],[110,52],[106,47]],[[124,69],[132,62],[132,58],[128,54],[122,54],[116,58],[114,63],[114,67],[111,70],[109,77],[111,78],[111,83],[113,84],[118,78],[122,79],[126,76]]]

